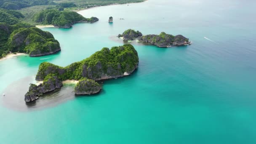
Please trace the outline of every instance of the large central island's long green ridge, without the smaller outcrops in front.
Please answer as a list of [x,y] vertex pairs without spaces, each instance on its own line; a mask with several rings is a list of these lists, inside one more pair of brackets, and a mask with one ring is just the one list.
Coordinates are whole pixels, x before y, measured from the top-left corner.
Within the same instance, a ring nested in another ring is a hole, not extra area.
[[102,48],[87,59],[59,67],[57,65],[43,62],[40,64],[36,80],[53,74],[60,80],[80,80],[87,77],[92,80],[104,80],[114,77],[123,77],[131,74],[139,63],[138,53],[131,44],[119,47]]

